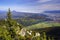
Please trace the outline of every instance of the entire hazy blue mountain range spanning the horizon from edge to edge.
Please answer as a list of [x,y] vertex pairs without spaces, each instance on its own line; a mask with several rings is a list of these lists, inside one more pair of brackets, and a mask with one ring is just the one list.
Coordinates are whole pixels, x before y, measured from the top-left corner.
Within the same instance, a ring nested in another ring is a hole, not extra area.
[[[44,11],[44,13],[27,13],[27,12],[17,12],[13,10],[12,18],[49,18],[53,20],[60,20],[60,10]],[[0,19],[4,19],[7,16],[7,11],[0,10]]]

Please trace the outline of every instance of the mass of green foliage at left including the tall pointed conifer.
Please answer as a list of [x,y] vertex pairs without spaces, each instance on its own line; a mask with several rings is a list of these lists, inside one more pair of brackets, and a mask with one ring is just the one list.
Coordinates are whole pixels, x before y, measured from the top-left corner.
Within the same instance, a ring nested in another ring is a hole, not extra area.
[[[10,9],[7,13],[6,20],[0,20],[0,39],[14,40],[17,36],[16,32],[21,30],[21,25],[12,19]],[[17,37],[18,38],[18,37]]]

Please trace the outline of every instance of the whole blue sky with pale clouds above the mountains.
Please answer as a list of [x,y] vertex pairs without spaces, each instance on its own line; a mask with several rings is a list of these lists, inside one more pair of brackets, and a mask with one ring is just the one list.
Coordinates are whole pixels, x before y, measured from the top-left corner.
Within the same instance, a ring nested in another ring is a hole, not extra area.
[[42,13],[48,10],[60,10],[60,0],[0,0],[0,10]]

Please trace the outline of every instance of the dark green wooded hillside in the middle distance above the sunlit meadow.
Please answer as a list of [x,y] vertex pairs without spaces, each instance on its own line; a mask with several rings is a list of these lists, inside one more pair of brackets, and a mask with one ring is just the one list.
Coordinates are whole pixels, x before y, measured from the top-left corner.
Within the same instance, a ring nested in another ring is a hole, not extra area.
[[15,19],[17,22],[21,23],[23,26],[30,26],[33,24],[37,24],[39,22],[43,22],[41,19],[34,19],[34,18],[19,18]]

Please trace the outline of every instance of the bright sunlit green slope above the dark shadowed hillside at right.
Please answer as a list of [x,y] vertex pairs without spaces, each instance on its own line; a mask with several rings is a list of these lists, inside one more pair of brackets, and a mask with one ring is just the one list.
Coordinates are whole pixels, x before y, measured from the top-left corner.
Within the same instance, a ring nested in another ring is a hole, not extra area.
[[58,23],[58,22],[42,22],[42,23],[28,26],[27,29],[41,29],[41,28],[49,28],[49,27],[60,27],[60,23]]

